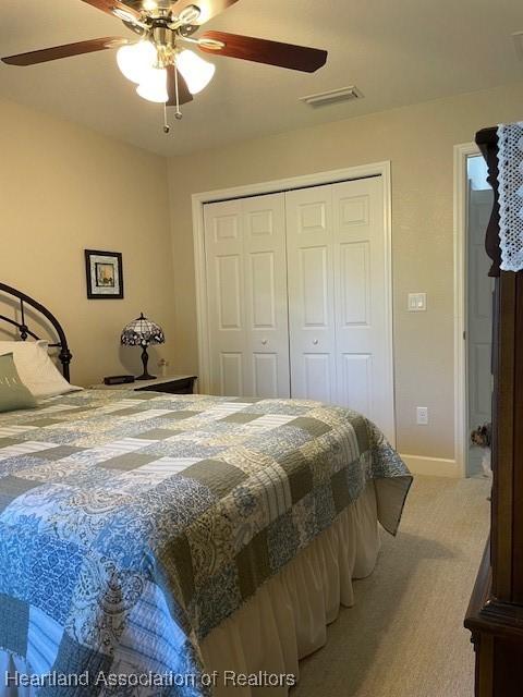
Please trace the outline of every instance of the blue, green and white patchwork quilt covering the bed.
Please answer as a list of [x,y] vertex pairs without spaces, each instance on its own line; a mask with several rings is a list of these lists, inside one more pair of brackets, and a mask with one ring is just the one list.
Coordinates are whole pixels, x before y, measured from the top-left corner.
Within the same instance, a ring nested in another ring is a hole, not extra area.
[[32,674],[171,675],[45,697],[204,695],[199,641],[373,479],[396,534],[406,467],[318,402],[100,390],[2,415],[0,650]]

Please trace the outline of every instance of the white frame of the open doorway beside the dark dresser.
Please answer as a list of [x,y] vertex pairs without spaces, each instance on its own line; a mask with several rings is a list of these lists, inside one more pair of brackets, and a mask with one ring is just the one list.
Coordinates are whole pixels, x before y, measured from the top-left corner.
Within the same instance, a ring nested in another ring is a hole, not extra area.
[[454,458],[462,477],[467,477],[469,360],[467,330],[467,172],[471,156],[481,155],[475,143],[454,146]]

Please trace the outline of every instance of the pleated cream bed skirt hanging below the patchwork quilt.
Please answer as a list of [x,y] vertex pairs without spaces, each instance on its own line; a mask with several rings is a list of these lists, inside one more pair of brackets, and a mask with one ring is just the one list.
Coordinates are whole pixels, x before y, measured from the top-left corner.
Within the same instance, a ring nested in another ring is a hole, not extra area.
[[[265,682],[269,675],[297,681],[300,659],[326,644],[327,625],[340,606],[354,603],[352,580],[373,572],[378,551],[372,482],[331,527],[204,639],[202,652],[208,675],[216,676],[216,697],[287,697],[285,685],[233,685],[232,674],[240,676],[236,683],[259,672],[266,673]],[[22,658],[0,651],[0,697],[34,697],[35,688],[5,686],[8,671],[31,673]]]

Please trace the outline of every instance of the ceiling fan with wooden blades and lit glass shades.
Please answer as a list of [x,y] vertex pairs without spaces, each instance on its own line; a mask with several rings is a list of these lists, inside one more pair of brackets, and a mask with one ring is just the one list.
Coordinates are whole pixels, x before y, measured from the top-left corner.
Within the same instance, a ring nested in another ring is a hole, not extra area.
[[[267,39],[204,32],[194,34],[206,22],[223,12],[238,0],[82,0],[121,20],[139,38],[132,41],[121,37],[104,37],[56,46],[28,53],[2,58],[10,65],[34,65],[71,56],[118,48],[121,72],[137,84],[136,91],[144,99],[175,107],[192,101],[215,73],[215,65],[190,50],[195,47],[205,53],[227,56],[314,73],[325,65],[327,51],[280,44]],[[166,133],[169,126],[165,124]]]

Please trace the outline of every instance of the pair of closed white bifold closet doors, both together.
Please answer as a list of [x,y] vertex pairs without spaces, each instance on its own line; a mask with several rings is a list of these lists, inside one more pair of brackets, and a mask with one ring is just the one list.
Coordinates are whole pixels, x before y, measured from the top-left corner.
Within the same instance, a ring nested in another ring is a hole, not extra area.
[[205,206],[210,391],[362,412],[393,439],[380,176]]

